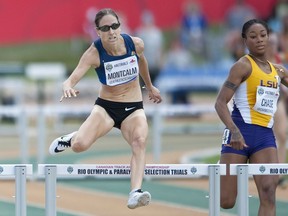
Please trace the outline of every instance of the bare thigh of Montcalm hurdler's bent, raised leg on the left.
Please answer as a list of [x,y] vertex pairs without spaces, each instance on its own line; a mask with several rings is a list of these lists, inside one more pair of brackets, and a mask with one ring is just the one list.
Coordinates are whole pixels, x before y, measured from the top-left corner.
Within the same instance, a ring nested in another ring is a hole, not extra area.
[[114,121],[105,109],[95,105],[90,115],[80,126],[77,137],[95,141],[97,138],[108,133],[113,128],[113,125]]

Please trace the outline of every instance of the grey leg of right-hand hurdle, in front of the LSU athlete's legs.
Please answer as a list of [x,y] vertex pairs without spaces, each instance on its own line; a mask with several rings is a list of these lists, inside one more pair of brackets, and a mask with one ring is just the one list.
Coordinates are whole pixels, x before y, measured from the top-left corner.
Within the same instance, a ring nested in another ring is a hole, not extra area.
[[249,192],[248,192],[248,165],[237,166],[237,212],[238,216],[249,215]]

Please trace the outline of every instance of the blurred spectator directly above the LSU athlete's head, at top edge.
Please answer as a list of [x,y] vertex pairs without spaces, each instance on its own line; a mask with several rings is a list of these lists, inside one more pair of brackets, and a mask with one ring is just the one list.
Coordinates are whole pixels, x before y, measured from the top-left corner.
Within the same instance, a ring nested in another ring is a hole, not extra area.
[[239,29],[252,18],[257,18],[255,10],[246,4],[245,0],[235,0],[235,4],[228,9],[226,14],[226,27],[229,30]]

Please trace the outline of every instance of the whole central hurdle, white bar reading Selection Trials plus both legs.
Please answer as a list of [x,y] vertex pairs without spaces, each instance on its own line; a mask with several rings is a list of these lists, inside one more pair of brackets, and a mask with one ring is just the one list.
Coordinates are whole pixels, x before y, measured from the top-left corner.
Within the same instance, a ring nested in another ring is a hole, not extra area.
[[[220,175],[226,175],[225,164],[147,164],[145,177],[193,178],[209,176],[209,216],[220,216]],[[45,177],[46,216],[56,216],[57,177],[129,178],[128,164],[39,164],[38,177]]]

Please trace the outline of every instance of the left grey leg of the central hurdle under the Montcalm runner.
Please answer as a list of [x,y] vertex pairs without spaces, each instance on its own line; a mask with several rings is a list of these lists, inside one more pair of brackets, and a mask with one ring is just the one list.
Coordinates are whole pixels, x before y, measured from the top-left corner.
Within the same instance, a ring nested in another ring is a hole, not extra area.
[[45,212],[46,216],[56,216],[56,166],[45,167]]

